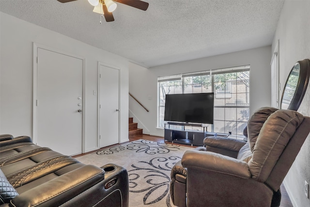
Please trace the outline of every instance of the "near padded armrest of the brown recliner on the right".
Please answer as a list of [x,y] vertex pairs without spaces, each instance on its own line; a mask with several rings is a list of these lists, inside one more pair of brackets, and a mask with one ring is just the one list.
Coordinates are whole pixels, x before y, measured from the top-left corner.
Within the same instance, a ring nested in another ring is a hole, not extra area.
[[188,150],[184,153],[181,163],[186,168],[197,168],[246,179],[251,176],[247,162],[213,152]]

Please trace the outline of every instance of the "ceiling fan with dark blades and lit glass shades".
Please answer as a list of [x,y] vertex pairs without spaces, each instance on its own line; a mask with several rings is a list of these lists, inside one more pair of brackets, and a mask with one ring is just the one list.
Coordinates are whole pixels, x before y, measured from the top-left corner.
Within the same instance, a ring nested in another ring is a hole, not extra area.
[[[58,1],[62,3],[67,3],[75,0],[58,0]],[[143,11],[146,11],[147,8],[149,7],[149,3],[141,0],[88,0],[88,2],[94,6],[93,12],[104,15],[107,22],[114,21],[112,12],[117,7],[117,4],[114,1],[135,7],[137,9],[141,9]]]

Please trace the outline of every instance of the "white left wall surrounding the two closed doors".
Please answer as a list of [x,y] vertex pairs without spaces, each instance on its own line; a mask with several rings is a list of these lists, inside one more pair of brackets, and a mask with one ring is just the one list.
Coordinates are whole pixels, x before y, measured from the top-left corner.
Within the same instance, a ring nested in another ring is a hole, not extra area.
[[86,59],[86,151],[94,150],[98,146],[98,106],[97,96],[93,96],[93,90],[97,91],[98,88],[98,61],[121,68],[121,140],[128,141],[128,60],[2,12],[0,134],[32,136],[33,42]]

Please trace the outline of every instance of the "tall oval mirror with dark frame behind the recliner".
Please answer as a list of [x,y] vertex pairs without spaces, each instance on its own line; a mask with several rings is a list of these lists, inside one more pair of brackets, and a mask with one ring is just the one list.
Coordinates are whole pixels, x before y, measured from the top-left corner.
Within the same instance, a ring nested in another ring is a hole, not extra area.
[[309,59],[294,64],[284,85],[280,109],[298,110],[308,87],[309,76]]

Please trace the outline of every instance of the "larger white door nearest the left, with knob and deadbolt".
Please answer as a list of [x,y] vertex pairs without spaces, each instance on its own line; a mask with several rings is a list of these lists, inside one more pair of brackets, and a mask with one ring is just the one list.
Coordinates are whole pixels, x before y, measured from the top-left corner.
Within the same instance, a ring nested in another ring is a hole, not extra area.
[[43,48],[37,55],[37,144],[80,154],[83,60]]

